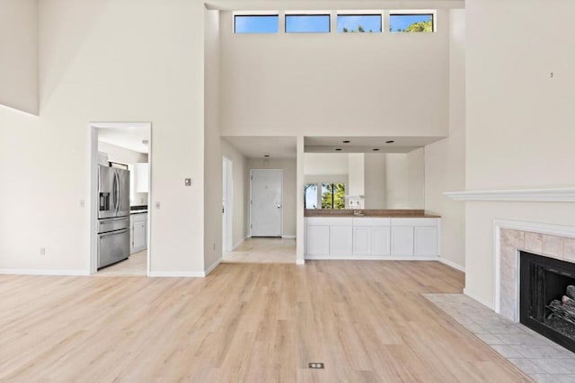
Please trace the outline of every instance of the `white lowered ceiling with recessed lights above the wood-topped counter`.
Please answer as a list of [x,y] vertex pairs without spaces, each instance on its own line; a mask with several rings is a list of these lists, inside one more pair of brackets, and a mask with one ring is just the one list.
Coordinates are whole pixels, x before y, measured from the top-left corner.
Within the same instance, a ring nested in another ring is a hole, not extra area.
[[443,137],[306,137],[304,142],[305,153],[409,153],[439,139]]

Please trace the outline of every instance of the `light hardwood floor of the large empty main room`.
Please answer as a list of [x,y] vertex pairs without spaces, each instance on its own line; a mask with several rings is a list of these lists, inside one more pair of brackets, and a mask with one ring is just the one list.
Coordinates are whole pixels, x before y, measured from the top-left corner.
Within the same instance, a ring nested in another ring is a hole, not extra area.
[[1,275],[0,381],[530,381],[421,296],[463,282],[440,263],[392,261]]

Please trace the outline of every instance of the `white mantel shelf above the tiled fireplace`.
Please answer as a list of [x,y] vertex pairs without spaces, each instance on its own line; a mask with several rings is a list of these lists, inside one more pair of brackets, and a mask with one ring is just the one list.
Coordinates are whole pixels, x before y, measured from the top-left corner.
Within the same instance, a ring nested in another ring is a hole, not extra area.
[[502,191],[447,191],[452,200],[575,202],[575,188]]

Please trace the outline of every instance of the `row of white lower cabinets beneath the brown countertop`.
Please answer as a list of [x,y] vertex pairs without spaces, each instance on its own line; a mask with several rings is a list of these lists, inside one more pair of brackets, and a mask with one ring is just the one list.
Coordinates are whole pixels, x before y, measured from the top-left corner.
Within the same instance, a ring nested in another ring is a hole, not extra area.
[[438,218],[306,218],[308,259],[438,256]]

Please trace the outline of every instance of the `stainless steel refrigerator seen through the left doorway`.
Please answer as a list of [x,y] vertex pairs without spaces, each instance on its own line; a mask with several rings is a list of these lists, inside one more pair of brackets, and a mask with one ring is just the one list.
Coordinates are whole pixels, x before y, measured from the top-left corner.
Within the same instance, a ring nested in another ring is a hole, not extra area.
[[98,269],[129,256],[129,171],[98,165]]

